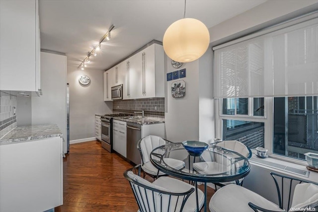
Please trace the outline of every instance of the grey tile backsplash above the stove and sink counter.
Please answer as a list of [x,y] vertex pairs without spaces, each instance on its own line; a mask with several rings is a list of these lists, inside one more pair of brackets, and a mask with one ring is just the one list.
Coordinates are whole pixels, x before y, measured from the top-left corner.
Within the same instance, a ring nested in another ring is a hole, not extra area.
[[164,116],[164,98],[114,100],[113,111],[132,113],[145,109],[146,115]]

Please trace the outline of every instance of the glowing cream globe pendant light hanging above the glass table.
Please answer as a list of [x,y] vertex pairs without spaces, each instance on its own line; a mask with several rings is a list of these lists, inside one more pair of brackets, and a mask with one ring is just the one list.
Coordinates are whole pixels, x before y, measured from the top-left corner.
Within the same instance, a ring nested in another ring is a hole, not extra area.
[[186,63],[199,59],[207,51],[210,34],[204,23],[183,16],[183,19],[175,21],[167,28],[162,43],[164,52],[170,59]]

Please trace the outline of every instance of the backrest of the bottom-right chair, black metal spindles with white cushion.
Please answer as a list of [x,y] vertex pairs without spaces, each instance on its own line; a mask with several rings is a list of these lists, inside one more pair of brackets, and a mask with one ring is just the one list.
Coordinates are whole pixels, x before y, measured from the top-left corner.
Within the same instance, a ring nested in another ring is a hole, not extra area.
[[318,206],[317,183],[273,172],[270,174],[275,181],[279,208],[289,211],[291,207],[305,208]]

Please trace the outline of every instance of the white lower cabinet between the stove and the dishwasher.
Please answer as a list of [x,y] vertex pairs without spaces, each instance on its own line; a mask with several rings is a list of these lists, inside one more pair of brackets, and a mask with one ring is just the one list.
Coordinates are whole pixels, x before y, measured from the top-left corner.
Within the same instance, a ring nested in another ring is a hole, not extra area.
[[113,149],[127,157],[126,122],[113,120]]

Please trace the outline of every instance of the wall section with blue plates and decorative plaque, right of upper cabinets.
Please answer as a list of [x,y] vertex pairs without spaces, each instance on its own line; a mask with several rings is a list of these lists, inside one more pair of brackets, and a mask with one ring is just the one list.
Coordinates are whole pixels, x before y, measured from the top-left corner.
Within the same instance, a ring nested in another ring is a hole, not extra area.
[[[199,65],[198,61],[183,64],[179,69],[171,66],[166,59],[167,73],[186,69],[186,77],[167,81],[167,107],[164,115],[166,139],[173,142],[199,139]],[[166,77],[165,77],[166,79]],[[177,80],[185,81],[185,96],[173,98],[171,84]]]

